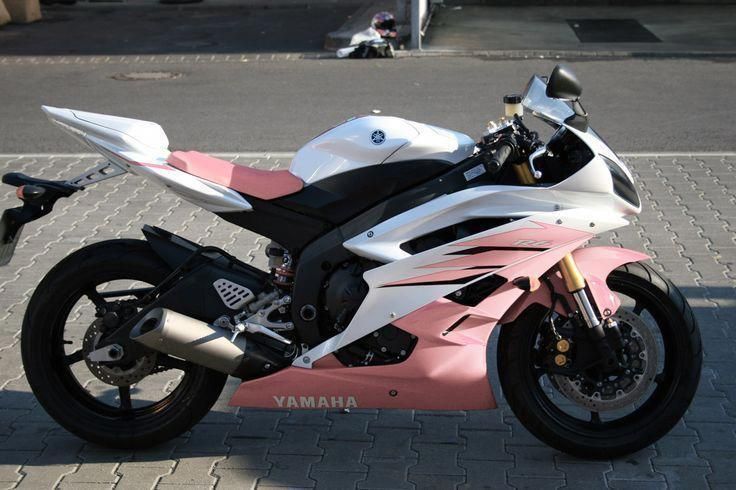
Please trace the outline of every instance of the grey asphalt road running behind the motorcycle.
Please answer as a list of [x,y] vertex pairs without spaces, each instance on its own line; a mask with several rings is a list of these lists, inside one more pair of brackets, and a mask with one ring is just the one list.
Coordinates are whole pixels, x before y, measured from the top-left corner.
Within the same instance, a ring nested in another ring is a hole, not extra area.
[[[159,122],[172,148],[295,150],[356,115],[382,114],[479,135],[500,99],[553,61],[476,58],[46,64],[0,57],[0,153],[83,150],[42,104]],[[736,62],[685,59],[571,63],[591,123],[618,151],[736,149]],[[166,70],[173,80],[117,81]]]

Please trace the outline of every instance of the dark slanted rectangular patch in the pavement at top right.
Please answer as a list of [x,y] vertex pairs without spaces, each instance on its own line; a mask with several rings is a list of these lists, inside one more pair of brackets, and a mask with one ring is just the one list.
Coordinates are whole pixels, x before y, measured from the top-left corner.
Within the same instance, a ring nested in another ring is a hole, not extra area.
[[583,43],[660,43],[652,31],[636,19],[568,19]]

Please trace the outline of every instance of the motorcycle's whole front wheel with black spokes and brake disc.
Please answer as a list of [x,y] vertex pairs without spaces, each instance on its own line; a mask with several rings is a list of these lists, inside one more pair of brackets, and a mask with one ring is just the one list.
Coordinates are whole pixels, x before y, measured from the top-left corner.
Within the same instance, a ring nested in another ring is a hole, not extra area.
[[613,458],[654,443],[685,414],[700,379],[697,322],[674,284],[640,263],[616,269],[607,282],[622,300],[614,316],[623,345],[617,371],[550,372],[544,359],[557,342],[567,342],[568,366],[575,366],[584,340],[573,321],[549,318],[541,306],[504,325],[498,344],[501,386],[519,421],[581,458]]

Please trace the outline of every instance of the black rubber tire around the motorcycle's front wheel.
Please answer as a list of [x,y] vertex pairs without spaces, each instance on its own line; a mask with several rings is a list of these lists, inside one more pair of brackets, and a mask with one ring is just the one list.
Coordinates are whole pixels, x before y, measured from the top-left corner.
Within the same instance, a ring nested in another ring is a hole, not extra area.
[[574,403],[560,395],[554,382],[549,382],[552,386],[545,391],[533,352],[539,343],[546,308],[533,306],[514,323],[504,325],[498,344],[501,386],[519,421],[548,445],[586,459],[623,456],[663,437],[690,405],[702,365],[697,322],[672,282],[641,263],[616,269],[607,282],[619,296],[633,298],[633,312],[651,319],[661,334],[661,372],[654,378],[649,394],[630,407],[631,412],[611,420],[602,420],[598,412],[590,412],[590,418],[585,420],[571,415],[579,407],[565,408]]

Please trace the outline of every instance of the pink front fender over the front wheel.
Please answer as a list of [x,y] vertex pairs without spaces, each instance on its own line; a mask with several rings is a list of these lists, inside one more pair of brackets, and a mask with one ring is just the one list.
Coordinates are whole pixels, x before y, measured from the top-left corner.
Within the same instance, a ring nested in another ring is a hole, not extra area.
[[[595,301],[601,315],[606,318],[616,313],[621,305],[621,300],[606,284],[606,278],[614,269],[631,262],[648,260],[650,257],[635,250],[620,247],[587,247],[579,248],[572,252],[575,263],[585,277],[593,300]],[[565,288],[559,272],[550,276],[550,282],[555,292],[568,298],[568,303],[574,305],[572,297]],[[552,294],[547,284],[542,283],[539,289],[521,296],[514,305],[508,309],[499,323],[510,323],[516,320],[524,310],[533,304],[541,304],[546,307],[552,306]],[[560,314],[566,314],[565,309],[559,303],[556,310]]]

